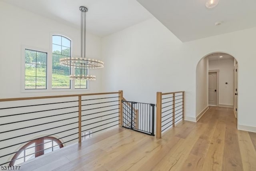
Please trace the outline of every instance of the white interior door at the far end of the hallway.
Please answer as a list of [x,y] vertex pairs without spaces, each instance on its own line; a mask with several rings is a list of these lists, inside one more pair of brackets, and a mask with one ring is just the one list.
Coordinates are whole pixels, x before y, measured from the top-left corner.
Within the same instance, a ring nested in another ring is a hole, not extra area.
[[217,73],[209,72],[208,75],[208,101],[209,105],[217,105]]

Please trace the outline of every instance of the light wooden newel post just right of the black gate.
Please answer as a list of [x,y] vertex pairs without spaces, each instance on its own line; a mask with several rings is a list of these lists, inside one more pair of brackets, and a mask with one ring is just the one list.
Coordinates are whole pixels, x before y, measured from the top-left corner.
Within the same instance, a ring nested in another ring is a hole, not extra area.
[[162,92],[156,93],[156,138],[162,137]]

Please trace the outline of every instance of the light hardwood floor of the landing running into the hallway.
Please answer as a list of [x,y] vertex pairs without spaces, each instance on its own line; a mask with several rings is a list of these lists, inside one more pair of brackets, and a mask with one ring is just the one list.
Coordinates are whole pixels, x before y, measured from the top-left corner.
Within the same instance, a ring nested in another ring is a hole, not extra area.
[[210,107],[162,139],[118,128],[24,163],[21,170],[256,171],[256,133],[237,130],[232,108]]

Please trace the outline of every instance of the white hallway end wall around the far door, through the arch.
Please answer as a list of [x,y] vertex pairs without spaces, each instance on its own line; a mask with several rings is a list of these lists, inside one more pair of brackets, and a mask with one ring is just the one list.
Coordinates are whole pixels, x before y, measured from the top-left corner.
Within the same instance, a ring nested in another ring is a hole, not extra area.
[[[209,70],[219,72],[219,104],[233,105],[234,98],[234,59],[209,61]],[[225,83],[228,84],[225,84]]]

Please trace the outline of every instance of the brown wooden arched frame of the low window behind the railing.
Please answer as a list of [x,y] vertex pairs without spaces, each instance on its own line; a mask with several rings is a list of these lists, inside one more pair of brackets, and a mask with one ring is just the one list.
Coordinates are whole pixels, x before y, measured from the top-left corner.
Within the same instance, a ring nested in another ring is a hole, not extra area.
[[[15,153],[15,155],[12,157],[11,162],[9,163],[9,165],[14,165],[15,161],[17,160],[18,156],[20,155],[20,153],[22,153],[22,151],[25,151],[26,148],[28,146],[30,146],[31,144],[35,143],[35,158],[39,157],[40,155],[44,155],[44,140],[54,140],[60,148],[64,147],[63,143],[60,141],[60,139],[57,139],[56,137],[42,137],[42,138],[38,138],[32,141],[29,141],[28,143],[26,143],[25,145],[23,145],[17,152]],[[42,151],[41,151],[42,150]],[[36,152],[38,151],[38,152]],[[25,153],[24,153],[25,155]],[[23,157],[25,158],[25,156]],[[22,158],[20,158],[22,159]],[[24,161],[25,162],[25,161]]]

